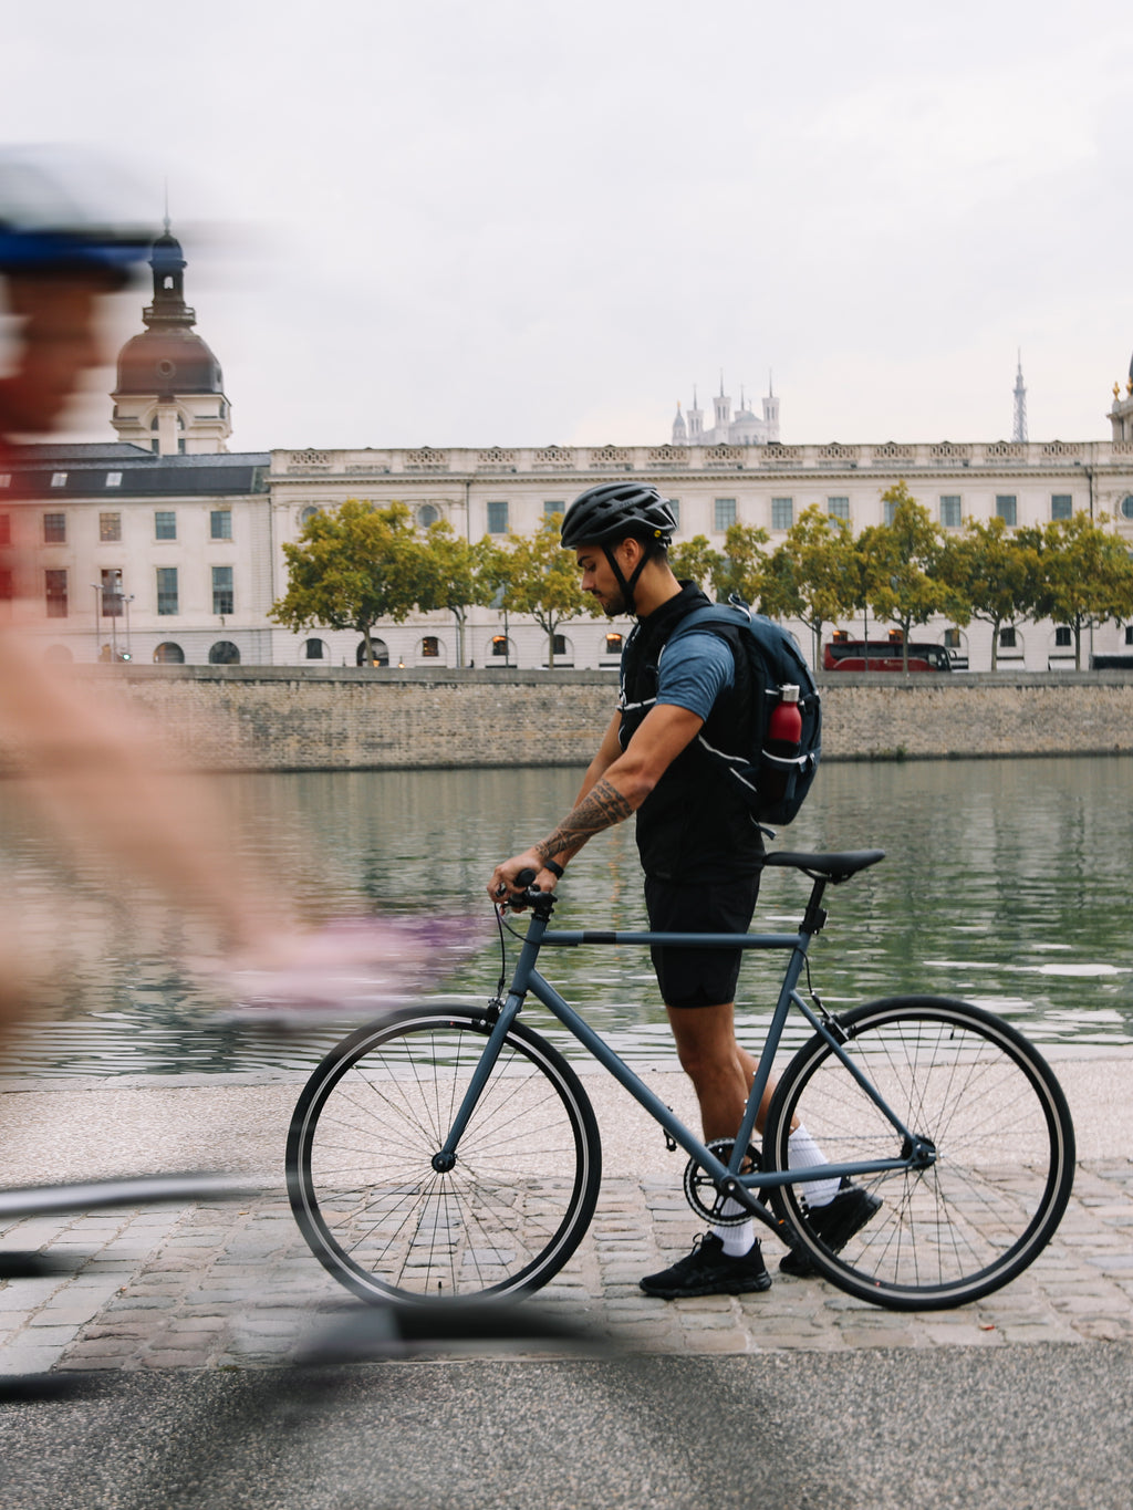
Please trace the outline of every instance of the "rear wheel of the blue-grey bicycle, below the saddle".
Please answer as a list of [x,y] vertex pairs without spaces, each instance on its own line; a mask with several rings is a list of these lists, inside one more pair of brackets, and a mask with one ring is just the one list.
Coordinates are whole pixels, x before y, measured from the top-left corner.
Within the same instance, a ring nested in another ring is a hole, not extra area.
[[[799,1185],[775,1190],[799,1255],[849,1294],[894,1311],[943,1311],[1006,1285],[1050,1241],[1074,1181],[1074,1126],[1050,1066],[1012,1027],[964,1001],[875,1001],[838,1022],[843,1051],[935,1160],[855,1176],[881,1205],[838,1252],[822,1206],[808,1210]],[[831,1163],[908,1157],[890,1119],[817,1036],[776,1087],[763,1143],[769,1167],[790,1167],[793,1119]]]

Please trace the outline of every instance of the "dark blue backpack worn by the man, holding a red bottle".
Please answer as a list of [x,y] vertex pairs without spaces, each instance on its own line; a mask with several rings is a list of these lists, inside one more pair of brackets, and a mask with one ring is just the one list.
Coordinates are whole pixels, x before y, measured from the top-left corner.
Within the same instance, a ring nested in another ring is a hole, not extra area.
[[[693,609],[666,645],[693,630],[712,630],[731,645],[739,705],[745,710],[736,753],[715,749],[702,738],[701,744],[743,787],[760,823],[790,823],[811,788],[822,757],[822,702],[810,666],[793,634],[773,619],[752,613],[736,593],[728,602]],[[799,689],[802,714],[799,750],[790,757],[767,747],[770,716],[784,686]]]

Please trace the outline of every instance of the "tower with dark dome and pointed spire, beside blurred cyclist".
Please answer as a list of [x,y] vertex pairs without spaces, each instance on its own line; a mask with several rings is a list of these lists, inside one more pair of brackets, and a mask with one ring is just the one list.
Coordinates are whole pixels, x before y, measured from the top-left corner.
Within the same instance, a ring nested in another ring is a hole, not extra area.
[[150,254],[154,297],[142,311],[145,331],[118,353],[110,423],[121,441],[162,456],[227,450],[233,433],[221,364],[193,331],[196,311],[184,302],[184,255],[169,231]]

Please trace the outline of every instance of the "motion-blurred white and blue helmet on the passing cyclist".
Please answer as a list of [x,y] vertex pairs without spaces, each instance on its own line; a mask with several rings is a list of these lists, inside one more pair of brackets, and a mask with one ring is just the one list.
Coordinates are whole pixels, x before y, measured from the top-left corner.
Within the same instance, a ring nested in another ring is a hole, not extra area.
[[116,165],[79,148],[0,151],[0,273],[97,270],[125,282],[156,234],[140,198]]

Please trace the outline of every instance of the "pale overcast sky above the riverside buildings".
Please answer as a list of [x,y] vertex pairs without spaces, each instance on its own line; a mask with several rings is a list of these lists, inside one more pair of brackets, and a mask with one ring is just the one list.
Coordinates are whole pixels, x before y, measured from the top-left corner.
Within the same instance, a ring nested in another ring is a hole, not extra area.
[[[1106,438],[1128,0],[36,0],[0,139],[163,181],[233,448]],[[118,311],[140,329],[144,290]],[[112,374],[95,388],[104,394]],[[755,405],[758,412],[758,405]],[[109,432],[109,400],[76,415]]]

